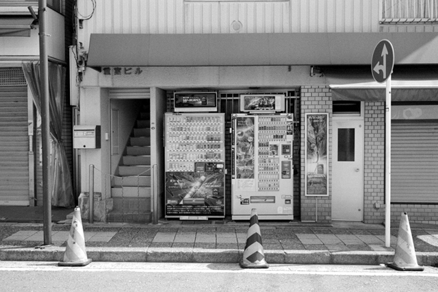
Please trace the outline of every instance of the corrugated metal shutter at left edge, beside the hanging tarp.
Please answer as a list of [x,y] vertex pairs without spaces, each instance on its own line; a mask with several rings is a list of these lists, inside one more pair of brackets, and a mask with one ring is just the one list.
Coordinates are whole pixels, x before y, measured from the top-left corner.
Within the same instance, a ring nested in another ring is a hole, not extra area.
[[27,86],[0,87],[0,205],[29,206]]

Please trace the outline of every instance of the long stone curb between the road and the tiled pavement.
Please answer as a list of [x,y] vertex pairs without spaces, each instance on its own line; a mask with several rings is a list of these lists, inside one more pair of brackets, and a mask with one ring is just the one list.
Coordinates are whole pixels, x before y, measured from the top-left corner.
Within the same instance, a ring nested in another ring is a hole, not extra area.
[[[64,247],[0,247],[0,260],[62,261]],[[202,250],[166,247],[88,247],[87,256],[96,262],[145,263],[240,263],[242,250]],[[330,252],[314,250],[265,250],[270,264],[300,265],[381,265],[394,252]],[[417,252],[418,265],[438,263],[438,252]]]

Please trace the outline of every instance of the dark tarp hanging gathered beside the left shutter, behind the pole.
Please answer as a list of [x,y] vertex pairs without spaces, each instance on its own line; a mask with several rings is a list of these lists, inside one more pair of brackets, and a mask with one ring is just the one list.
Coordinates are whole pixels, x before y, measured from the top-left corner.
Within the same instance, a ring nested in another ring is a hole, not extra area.
[[[34,104],[41,114],[40,62],[23,62],[23,71],[31,89]],[[49,62],[49,108],[50,136],[53,152],[50,157],[52,206],[70,208],[75,206],[70,169],[62,144],[62,121],[64,112],[66,68]]]

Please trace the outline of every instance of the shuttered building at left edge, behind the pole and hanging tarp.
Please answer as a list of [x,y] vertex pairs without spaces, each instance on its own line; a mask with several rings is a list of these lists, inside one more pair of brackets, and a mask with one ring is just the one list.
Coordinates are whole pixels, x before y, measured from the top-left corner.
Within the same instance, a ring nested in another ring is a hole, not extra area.
[[[73,2],[47,3],[49,62],[65,70],[66,44],[71,42],[71,29],[66,28],[66,23],[71,27]],[[42,206],[41,118],[34,106],[32,86],[23,71],[23,64],[39,61],[38,26],[38,1],[0,1],[0,205],[5,206]],[[62,86],[66,85],[63,81]],[[64,142],[71,166],[72,115],[67,99],[68,95],[63,93],[59,102],[62,134],[58,138]]]

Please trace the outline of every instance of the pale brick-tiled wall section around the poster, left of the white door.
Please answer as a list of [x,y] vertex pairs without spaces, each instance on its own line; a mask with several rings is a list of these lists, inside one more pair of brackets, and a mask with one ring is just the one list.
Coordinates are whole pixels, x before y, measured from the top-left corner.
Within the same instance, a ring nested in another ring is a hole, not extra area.
[[[332,101],[328,86],[301,87],[301,166],[300,166],[300,209],[301,221],[331,222],[331,137],[332,137]],[[329,196],[305,196],[305,114],[329,112]]]

